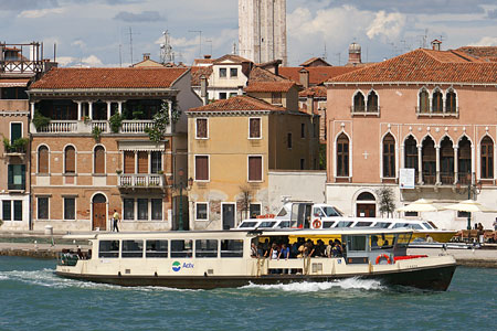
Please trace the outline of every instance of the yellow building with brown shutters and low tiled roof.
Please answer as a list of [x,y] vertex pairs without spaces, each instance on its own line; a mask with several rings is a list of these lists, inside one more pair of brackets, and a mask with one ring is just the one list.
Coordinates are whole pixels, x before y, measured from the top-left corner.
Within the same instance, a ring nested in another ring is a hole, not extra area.
[[235,227],[265,214],[269,170],[318,167],[318,118],[251,96],[188,115],[190,228]]

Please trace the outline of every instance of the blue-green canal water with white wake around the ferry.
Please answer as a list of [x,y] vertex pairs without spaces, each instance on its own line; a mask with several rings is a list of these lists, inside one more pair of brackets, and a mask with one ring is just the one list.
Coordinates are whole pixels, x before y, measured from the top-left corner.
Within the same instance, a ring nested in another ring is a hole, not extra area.
[[55,261],[0,257],[0,330],[497,330],[497,269],[459,267],[446,292],[374,280],[239,289],[67,280]]

